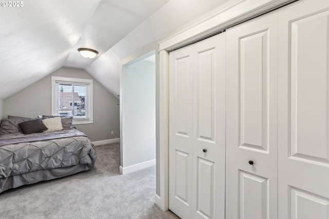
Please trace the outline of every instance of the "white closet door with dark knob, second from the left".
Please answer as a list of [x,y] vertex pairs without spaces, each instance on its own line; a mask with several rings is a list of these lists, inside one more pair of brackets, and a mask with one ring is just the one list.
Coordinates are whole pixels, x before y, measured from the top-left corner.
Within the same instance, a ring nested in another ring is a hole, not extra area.
[[225,218],[225,35],[193,45],[193,218]]

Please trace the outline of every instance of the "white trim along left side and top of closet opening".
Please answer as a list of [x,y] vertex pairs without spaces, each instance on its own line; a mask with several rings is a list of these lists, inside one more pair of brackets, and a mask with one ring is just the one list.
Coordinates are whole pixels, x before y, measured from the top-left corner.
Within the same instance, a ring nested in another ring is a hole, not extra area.
[[162,211],[169,209],[169,52],[292,2],[296,0],[230,0],[203,21],[159,42],[160,151],[157,159],[160,166],[160,195],[155,194],[155,204]]

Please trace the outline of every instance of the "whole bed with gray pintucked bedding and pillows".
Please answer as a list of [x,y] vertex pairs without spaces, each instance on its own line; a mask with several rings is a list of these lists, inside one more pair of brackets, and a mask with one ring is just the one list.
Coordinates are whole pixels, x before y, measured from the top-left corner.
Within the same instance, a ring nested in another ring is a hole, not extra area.
[[38,119],[8,116],[3,119],[0,124],[0,193],[94,168],[95,147],[71,122],[72,117],[66,116]]

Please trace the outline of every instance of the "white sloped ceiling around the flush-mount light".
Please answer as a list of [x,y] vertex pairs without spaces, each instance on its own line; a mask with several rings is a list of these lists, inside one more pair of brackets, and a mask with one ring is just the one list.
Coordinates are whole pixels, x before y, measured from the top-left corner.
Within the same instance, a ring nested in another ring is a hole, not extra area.
[[[119,94],[119,61],[228,0],[29,0],[0,8],[0,99],[65,66]],[[7,2],[9,3],[9,2]],[[83,58],[78,48],[99,52]]]

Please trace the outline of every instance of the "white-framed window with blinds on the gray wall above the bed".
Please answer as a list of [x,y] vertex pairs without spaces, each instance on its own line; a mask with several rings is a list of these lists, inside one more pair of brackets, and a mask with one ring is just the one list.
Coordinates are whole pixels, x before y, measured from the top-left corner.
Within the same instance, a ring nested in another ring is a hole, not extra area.
[[93,80],[51,76],[51,114],[93,123]]

